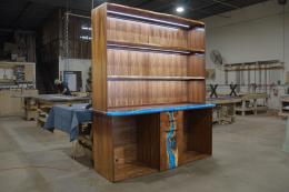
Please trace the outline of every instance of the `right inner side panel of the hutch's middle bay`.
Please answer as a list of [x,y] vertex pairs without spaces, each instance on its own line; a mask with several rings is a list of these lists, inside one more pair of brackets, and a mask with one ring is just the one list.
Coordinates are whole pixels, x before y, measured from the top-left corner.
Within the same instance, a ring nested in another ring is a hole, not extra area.
[[205,54],[188,57],[188,77],[206,77]]

